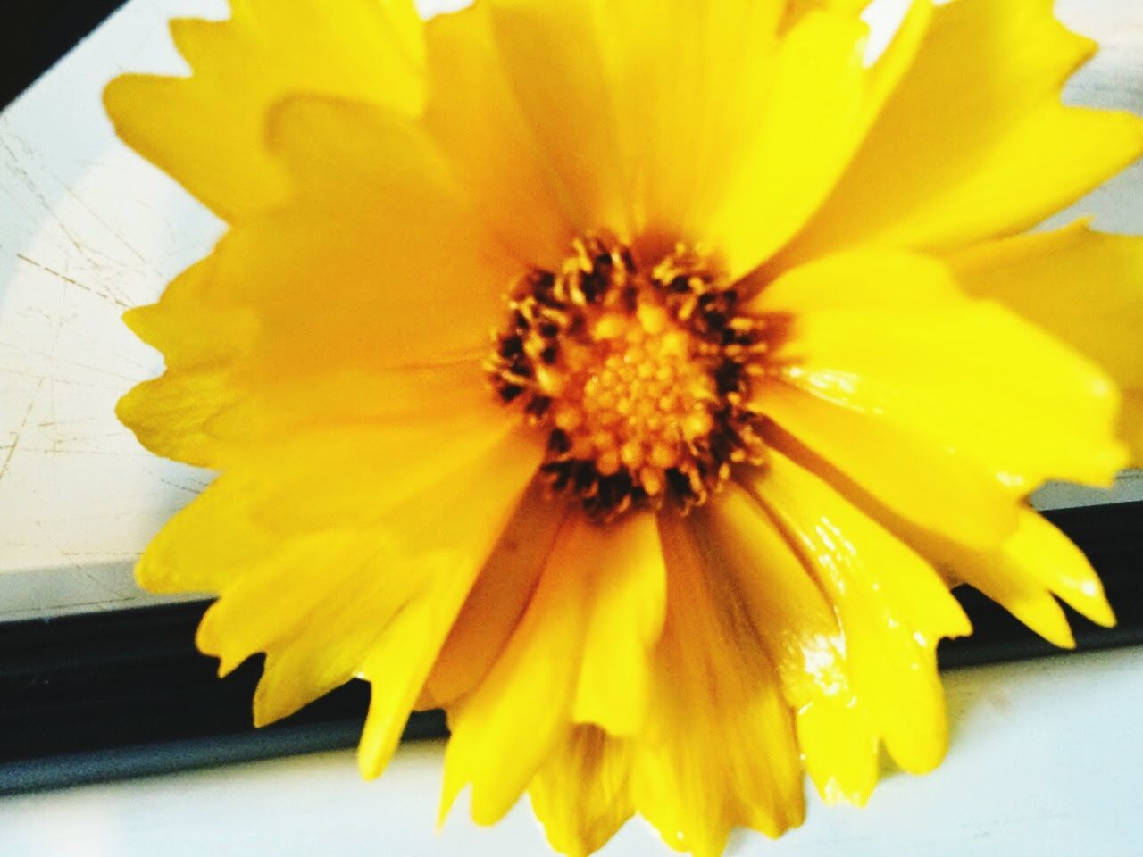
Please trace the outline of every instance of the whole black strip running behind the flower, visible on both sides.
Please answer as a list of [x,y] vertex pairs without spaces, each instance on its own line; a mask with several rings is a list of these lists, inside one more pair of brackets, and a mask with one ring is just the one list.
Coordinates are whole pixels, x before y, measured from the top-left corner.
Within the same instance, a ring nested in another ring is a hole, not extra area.
[[[1071,614],[1079,650],[1143,643],[1143,503],[1049,512],[1090,556],[1119,615]],[[958,594],[976,633],[945,641],[945,668],[1060,654],[975,592]],[[352,682],[254,730],[253,659],[226,679],[194,650],[205,604],[0,624],[0,793],[352,746],[368,690]],[[445,735],[439,712],[406,737]]]

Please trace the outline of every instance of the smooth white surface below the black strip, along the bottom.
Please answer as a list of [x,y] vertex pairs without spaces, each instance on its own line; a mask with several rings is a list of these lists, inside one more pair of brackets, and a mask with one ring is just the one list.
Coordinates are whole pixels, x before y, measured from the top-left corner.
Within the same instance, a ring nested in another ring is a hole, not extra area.
[[[810,802],[777,842],[728,857],[1137,857],[1143,650],[954,672],[953,750],[925,777],[887,774],[863,810]],[[442,745],[403,747],[362,783],[350,752],[0,802],[6,857],[521,857],[550,854],[526,802],[493,828],[459,801],[433,833]],[[674,854],[641,822],[601,857]]]

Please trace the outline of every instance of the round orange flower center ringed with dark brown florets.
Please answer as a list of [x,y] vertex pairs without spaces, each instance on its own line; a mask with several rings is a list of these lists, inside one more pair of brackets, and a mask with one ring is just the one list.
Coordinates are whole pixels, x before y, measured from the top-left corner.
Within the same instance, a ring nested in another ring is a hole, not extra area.
[[609,235],[574,249],[558,272],[515,283],[487,363],[493,385],[547,431],[543,473],[593,519],[664,503],[686,513],[732,464],[762,458],[746,408],[761,323],[686,248],[649,270]]

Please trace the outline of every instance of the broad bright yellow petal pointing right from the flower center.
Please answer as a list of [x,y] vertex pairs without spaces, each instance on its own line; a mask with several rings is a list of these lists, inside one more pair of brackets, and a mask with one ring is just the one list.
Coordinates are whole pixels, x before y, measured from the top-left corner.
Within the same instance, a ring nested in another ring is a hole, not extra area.
[[1012,496],[1109,484],[1124,464],[1111,381],[996,304],[807,313],[774,360],[785,383],[951,450]]

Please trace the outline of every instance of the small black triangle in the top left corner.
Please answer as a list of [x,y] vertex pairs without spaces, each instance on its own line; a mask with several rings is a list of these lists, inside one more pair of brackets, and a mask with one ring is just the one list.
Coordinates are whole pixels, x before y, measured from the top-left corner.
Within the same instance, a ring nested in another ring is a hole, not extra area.
[[0,0],[0,109],[123,0]]

